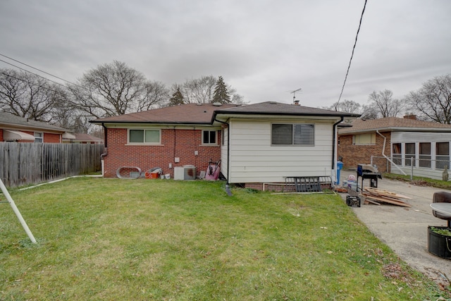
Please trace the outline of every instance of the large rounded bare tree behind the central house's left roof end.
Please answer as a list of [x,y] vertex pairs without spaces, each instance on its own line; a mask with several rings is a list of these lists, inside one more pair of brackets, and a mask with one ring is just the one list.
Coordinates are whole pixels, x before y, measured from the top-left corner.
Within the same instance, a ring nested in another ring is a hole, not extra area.
[[148,82],[120,61],[89,70],[69,89],[75,97],[73,104],[97,118],[150,109],[166,93],[163,84]]

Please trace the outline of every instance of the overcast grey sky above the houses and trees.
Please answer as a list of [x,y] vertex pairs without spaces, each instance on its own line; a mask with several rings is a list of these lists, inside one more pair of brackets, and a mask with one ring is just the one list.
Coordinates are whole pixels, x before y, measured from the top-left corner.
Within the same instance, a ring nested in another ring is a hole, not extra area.
[[[246,102],[290,104],[301,88],[302,105],[330,106],[363,7],[364,0],[1,0],[0,54],[72,82],[117,60],[168,87],[222,75]],[[342,99],[366,104],[385,89],[401,99],[451,73],[450,16],[450,0],[368,0]],[[14,68],[8,63],[0,68]]]

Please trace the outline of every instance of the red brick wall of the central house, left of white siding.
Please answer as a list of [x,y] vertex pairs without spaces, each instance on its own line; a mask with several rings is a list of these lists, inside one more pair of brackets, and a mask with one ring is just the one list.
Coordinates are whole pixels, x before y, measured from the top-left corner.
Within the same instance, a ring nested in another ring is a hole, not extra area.
[[[221,132],[218,133],[217,146],[202,146],[202,130],[162,129],[161,145],[127,145],[127,129],[107,129],[108,155],[104,156],[104,176],[116,177],[121,166],[136,166],[144,174],[150,168],[161,167],[163,173],[174,176],[174,167],[183,165],[196,166],[197,176],[206,171],[210,159],[221,159]],[[197,156],[194,152],[197,151]],[[180,158],[175,163],[174,158]],[[172,168],[169,168],[172,164]]]

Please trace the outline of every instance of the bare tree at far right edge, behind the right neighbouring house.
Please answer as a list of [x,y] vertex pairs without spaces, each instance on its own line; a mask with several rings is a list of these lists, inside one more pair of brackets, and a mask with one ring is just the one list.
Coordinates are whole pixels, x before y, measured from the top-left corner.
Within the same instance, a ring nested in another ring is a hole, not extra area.
[[419,90],[409,92],[404,101],[427,120],[451,124],[451,75],[428,80]]

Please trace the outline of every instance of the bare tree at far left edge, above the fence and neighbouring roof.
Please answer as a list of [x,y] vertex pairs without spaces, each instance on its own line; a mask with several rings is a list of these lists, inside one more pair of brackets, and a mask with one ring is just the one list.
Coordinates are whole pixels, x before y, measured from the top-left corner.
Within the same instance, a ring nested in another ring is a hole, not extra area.
[[51,121],[65,89],[25,71],[0,69],[0,109],[36,121]]

